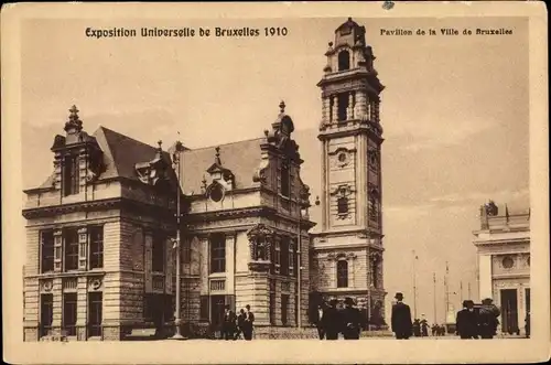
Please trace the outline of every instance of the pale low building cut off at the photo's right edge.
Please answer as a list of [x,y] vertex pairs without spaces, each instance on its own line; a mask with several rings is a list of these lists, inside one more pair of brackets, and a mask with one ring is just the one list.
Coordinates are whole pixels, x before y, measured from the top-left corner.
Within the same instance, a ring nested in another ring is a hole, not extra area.
[[511,211],[489,202],[480,206],[480,228],[474,232],[480,300],[501,309],[500,331],[525,331],[530,311],[530,210]]

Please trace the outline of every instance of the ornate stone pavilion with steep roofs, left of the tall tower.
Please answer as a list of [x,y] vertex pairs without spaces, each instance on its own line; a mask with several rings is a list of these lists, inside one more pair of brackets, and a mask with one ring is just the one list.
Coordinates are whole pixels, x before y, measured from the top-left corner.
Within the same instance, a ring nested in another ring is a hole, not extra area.
[[284,107],[261,138],[170,153],[104,127],[89,136],[74,107],[52,176],[25,191],[25,341],[173,330],[179,193],[184,326],[216,331],[226,304],[249,304],[257,326],[306,323],[314,224]]

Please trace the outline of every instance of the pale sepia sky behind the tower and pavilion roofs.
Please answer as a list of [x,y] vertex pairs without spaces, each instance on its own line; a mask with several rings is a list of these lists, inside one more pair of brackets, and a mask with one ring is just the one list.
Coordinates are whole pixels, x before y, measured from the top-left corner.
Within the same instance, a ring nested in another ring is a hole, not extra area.
[[[355,19],[386,89],[381,94],[385,287],[443,321],[445,262],[452,303],[477,300],[473,230],[488,198],[525,210],[528,192],[527,20],[488,19],[511,35],[391,36],[381,29],[482,26],[476,19]],[[54,136],[76,104],[84,129],[188,148],[263,136],[285,101],[304,159],[302,180],[320,194],[321,93],[327,43],[345,18],[270,20],[28,20],[22,26],[23,187],[53,169]],[[284,26],[280,37],[89,39],[87,26]],[[320,221],[318,207],[311,210]],[[23,218],[21,229],[24,229]],[[433,290],[433,273],[436,292]],[[463,285],[463,296],[460,285]]]

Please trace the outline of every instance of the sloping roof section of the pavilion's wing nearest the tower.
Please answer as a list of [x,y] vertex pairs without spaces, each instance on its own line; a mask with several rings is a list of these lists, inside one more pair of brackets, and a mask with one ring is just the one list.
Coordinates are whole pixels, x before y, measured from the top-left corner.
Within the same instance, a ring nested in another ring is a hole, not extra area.
[[219,147],[220,162],[224,169],[235,175],[235,189],[247,189],[253,185],[252,176],[261,162],[260,144],[263,138],[238,141],[186,150],[182,153],[182,189],[185,194],[201,194],[203,176],[213,165],[216,147]]

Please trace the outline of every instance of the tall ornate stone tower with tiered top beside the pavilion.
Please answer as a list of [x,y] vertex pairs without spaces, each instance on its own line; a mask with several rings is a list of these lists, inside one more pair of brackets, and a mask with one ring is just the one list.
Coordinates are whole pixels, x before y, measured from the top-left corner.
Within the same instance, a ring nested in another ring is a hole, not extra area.
[[352,18],[336,29],[325,56],[317,84],[322,222],[312,239],[312,291],[318,299],[350,297],[377,323],[385,315],[386,294],[379,118],[385,87],[374,68],[366,29]]

